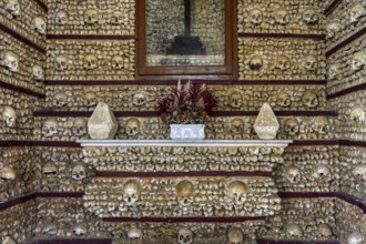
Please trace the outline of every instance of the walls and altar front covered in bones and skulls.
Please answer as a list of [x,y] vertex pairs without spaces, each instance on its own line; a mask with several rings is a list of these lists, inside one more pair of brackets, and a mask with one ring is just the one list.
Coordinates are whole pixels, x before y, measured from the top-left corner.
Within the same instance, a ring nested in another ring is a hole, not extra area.
[[[257,111],[263,102],[270,102],[275,111],[333,110],[339,113],[338,118],[279,116],[281,130],[277,139],[366,141],[365,92],[357,91],[332,99],[329,102],[326,100],[326,94],[365,82],[363,80],[366,72],[365,39],[357,39],[331,57],[325,57],[327,50],[365,27],[365,6],[363,1],[357,0],[342,1],[329,16],[325,17],[323,10],[331,3],[331,1],[294,0],[284,4],[283,1],[274,0],[268,4],[267,1],[262,0],[238,0],[240,33],[326,33],[326,42],[303,38],[238,38],[237,77],[248,83],[253,81],[253,85],[207,85],[217,96],[216,110]],[[98,102],[103,101],[113,111],[155,111],[156,101],[166,95],[172,88],[128,84],[129,81],[134,80],[135,74],[136,50],[133,38],[58,39],[59,34],[134,37],[134,0],[48,0],[47,6],[48,13],[33,0],[4,0],[0,3],[1,24],[11,28],[39,47],[30,47],[8,32],[1,31],[0,81],[45,94],[43,100],[6,88],[0,89],[1,141],[34,140],[52,143],[88,139],[88,116],[33,116],[34,111],[44,109],[57,112],[91,112]],[[174,11],[164,12],[166,19],[173,13]],[[166,21],[166,24],[169,26],[170,22]],[[48,40],[45,31],[50,37]],[[47,49],[47,53],[44,54],[40,49]],[[255,80],[324,79],[328,80],[327,85],[255,84]],[[49,85],[43,85],[43,80],[51,82]],[[81,85],[78,80],[87,82],[87,85]],[[103,81],[110,80],[123,80],[126,83],[103,85]],[[52,81],[57,81],[55,84],[52,84]],[[74,83],[62,84],[62,81]],[[101,85],[88,85],[88,81],[99,81]],[[257,139],[252,129],[254,120],[255,116],[210,118],[206,136],[226,140]],[[118,122],[120,129],[116,139],[169,139],[169,126],[156,116],[121,115]],[[33,191],[84,192],[85,195],[82,199],[37,199],[1,211],[0,214],[3,216],[1,220],[14,225],[1,225],[0,233],[18,243],[24,243],[33,235],[40,238],[79,235],[114,237],[124,240],[125,243],[131,242],[129,236],[163,238],[179,243],[191,243],[193,240],[195,243],[204,243],[207,240],[214,243],[220,238],[233,243],[242,238],[252,243],[256,237],[340,238],[345,242],[349,233],[366,231],[363,224],[365,217],[360,217],[363,213],[357,207],[334,199],[283,199],[278,204],[279,199],[271,199],[270,195],[275,194],[276,191],[347,192],[356,197],[365,197],[364,149],[338,145],[292,145],[285,150],[283,157],[274,153],[268,154],[264,149],[251,152],[248,155],[238,152],[236,155],[230,150],[207,149],[192,152],[183,149],[180,153],[185,156],[169,157],[170,152],[166,149],[149,151],[136,148],[125,154],[119,151],[90,152],[80,148],[1,148],[0,202]],[[126,163],[118,163],[121,161]],[[207,161],[210,163],[206,163]],[[189,185],[193,184],[197,189],[194,197],[187,196],[187,201],[192,199],[195,203],[195,207],[190,212],[190,207],[180,205],[176,196],[179,194],[176,185],[186,179],[164,181],[152,177],[129,181],[119,177],[94,177],[98,171],[270,171],[273,162],[277,163],[273,167],[274,181],[251,177],[237,180],[253,191],[252,195],[247,196],[248,210],[230,209],[224,200],[220,200],[220,194],[215,195],[221,187],[231,185],[230,179],[189,177]],[[275,192],[267,192],[268,185],[273,184],[276,185]],[[140,195],[134,201],[139,203],[143,200],[151,204],[130,205],[129,196],[105,194],[112,191],[108,187],[110,185],[115,185],[122,192],[125,191],[126,195],[136,190]],[[132,190],[126,190],[129,189],[126,186]],[[150,191],[164,194],[149,195],[146,192]],[[207,192],[211,200],[204,197]],[[256,209],[255,200],[262,195],[268,197],[264,197],[261,207]],[[122,202],[126,204],[115,205],[121,201],[119,197],[122,197]],[[213,207],[210,202],[216,199],[222,204]],[[164,209],[164,204],[170,205]],[[221,207],[223,210],[220,212]],[[268,215],[272,216],[267,222],[254,221],[241,224],[138,222],[122,224],[100,220],[113,214],[133,216],[139,212],[148,216],[164,214],[173,216],[174,213],[190,216],[220,216],[220,214],[230,215],[230,211],[234,211],[234,215],[241,214],[241,211],[243,213],[253,211],[254,216],[261,213],[270,213]],[[26,215],[29,217],[20,217]]]

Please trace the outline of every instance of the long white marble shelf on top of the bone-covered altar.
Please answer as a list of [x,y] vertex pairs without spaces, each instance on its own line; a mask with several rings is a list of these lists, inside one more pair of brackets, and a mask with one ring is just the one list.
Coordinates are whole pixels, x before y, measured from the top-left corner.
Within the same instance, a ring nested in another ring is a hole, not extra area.
[[78,140],[81,146],[287,146],[292,140]]

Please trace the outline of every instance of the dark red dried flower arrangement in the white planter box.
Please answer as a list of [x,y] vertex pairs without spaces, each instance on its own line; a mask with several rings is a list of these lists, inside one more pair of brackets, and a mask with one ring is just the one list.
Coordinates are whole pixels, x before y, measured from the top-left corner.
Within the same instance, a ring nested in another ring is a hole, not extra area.
[[161,118],[170,124],[204,123],[216,106],[217,100],[206,85],[177,82],[172,93],[159,102]]

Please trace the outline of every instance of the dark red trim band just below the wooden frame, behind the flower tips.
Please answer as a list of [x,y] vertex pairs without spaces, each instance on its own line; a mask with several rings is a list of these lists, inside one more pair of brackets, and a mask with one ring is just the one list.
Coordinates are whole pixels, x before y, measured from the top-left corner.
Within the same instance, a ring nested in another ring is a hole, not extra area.
[[[210,85],[326,85],[326,80],[192,80]],[[45,85],[176,85],[176,80],[47,80]]]

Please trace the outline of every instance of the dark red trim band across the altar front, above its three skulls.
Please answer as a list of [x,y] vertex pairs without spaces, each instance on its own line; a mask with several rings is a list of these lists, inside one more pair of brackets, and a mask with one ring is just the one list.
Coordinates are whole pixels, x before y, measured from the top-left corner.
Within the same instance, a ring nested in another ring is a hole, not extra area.
[[122,171],[98,171],[96,177],[206,177],[206,176],[247,176],[271,177],[272,173],[266,171],[190,171],[190,172],[122,172]]

